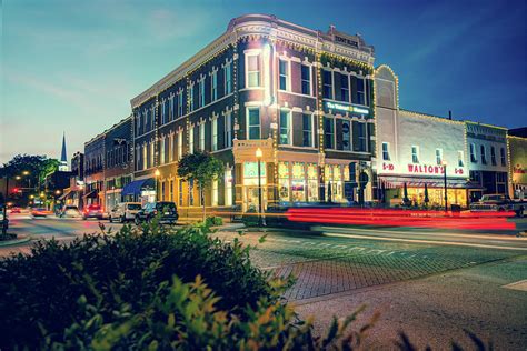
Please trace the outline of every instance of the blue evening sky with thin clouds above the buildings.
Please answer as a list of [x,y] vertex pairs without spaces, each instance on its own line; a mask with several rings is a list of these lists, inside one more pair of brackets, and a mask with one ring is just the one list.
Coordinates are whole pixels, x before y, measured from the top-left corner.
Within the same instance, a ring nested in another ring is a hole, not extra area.
[[401,108],[527,124],[527,1],[3,0],[0,162],[69,157],[130,113],[130,99],[220,36],[271,13],[362,34],[399,76]]

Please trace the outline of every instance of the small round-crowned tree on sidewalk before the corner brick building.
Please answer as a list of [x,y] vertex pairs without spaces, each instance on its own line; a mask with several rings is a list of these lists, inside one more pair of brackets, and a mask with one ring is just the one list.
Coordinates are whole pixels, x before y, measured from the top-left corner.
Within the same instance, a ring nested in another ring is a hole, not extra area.
[[223,174],[225,166],[219,159],[207,152],[188,153],[179,160],[178,176],[198,185],[201,205],[205,209],[205,190],[210,189],[212,181]]

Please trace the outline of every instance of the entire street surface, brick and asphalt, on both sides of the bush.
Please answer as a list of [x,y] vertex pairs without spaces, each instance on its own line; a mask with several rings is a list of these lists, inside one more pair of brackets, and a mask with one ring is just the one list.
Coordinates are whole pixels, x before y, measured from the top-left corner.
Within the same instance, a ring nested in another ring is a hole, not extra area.
[[[450,340],[468,345],[463,329],[496,349],[527,345],[527,237],[516,231],[470,232],[409,228],[318,227],[312,232],[247,230],[227,224],[223,240],[253,245],[251,259],[277,275],[296,278],[285,298],[302,318],[314,315],[321,331],[332,315],[346,317],[359,305],[381,313],[367,345],[390,348],[399,331],[424,348],[445,349]],[[102,222],[107,229],[122,224]],[[32,237],[0,254],[28,253],[38,239],[67,242],[100,231],[96,220],[11,217],[11,232]],[[240,237],[239,231],[243,231]],[[267,234],[260,243],[259,239]]]

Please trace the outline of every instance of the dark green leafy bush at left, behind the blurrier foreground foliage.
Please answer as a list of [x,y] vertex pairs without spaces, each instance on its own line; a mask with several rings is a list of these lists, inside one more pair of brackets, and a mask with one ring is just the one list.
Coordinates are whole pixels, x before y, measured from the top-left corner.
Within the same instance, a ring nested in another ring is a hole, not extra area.
[[220,298],[216,305],[240,319],[246,307],[276,301],[268,274],[253,268],[248,248],[212,239],[207,225],[177,232],[156,222],[142,230],[125,225],[118,233],[86,235],[67,245],[38,242],[31,255],[0,262],[0,349],[22,343],[36,349],[42,333],[61,340],[66,328],[82,320],[80,297],[97,307],[105,322],[116,313],[148,309],[162,282],[178,275],[192,282],[200,274]]

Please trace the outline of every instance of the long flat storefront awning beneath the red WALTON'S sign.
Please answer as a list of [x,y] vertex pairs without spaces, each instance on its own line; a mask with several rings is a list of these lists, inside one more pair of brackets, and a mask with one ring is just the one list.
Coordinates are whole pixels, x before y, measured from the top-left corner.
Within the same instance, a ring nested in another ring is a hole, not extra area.
[[[379,177],[379,183],[385,189],[396,188],[444,188],[445,182],[440,178],[414,178],[414,177]],[[447,188],[454,189],[481,189],[479,184],[466,179],[447,179]]]

